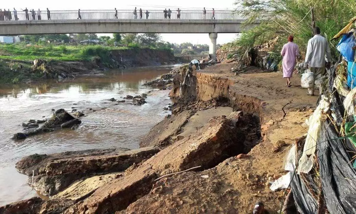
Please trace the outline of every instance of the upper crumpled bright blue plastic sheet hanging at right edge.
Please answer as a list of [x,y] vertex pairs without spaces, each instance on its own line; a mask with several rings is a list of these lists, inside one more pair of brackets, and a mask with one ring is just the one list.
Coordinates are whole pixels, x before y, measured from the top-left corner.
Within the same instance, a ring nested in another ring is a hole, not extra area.
[[355,50],[353,47],[356,46],[356,39],[353,32],[345,34],[342,36],[339,44],[336,46],[336,49],[340,54],[346,58],[347,61],[353,62],[355,56]]

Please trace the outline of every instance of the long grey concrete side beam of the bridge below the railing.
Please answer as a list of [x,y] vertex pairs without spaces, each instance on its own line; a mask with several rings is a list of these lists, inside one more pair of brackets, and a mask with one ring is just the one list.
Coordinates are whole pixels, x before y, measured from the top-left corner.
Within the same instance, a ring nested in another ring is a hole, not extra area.
[[[31,20],[2,21],[0,35],[77,33],[240,33],[243,20]],[[250,26],[251,27],[251,26]]]

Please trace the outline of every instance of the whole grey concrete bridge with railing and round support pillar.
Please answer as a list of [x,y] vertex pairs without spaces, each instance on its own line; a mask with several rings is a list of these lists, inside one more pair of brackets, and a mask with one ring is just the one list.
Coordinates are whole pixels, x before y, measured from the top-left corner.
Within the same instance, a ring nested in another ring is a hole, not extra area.
[[[167,14],[167,15],[166,15]],[[73,33],[208,33],[209,53],[215,58],[218,33],[240,33],[249,18],[234,10],[68,10],[6,11],[0,16],[0,35]],[[268,14],[259,17],[268,18]],[[257,24],[257,23],[256,23]],[[250,25],[251,27],[251,25]]]

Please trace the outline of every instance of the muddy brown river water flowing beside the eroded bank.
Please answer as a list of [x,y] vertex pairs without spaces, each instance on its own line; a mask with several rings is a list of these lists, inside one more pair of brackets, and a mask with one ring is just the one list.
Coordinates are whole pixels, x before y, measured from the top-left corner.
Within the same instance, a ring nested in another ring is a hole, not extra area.
[[[153,90],[147,103],[133,106],[129,102],[113,105],[108,99],[140,95],[151,88],[146,81],[167,73],[171,67],[159,66],[125,71],[110,71],[103,76],[84,76],[63,82],[36,85],[0,85],[0,206],[36,196],[18,173],[15,163],[34,153],[50,154],[82,149],[125,147],[138,148],[138,141],[169,112],[163,107],[171,101],[168,90]],[[60,129],[52,133],[28,137],[22,141],[10,139],[22,132],[22,122],[47,118],[51,109],[78,111],[95,109],[82,117],[76,130]]]

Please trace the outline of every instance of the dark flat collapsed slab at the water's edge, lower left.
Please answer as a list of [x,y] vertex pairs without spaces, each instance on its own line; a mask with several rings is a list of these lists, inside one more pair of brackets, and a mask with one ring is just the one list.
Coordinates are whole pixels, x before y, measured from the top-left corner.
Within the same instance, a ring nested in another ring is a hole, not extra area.
[[16,163],[16,169],[29,176],[29,184],[32,183],[33,172],[33,187],[43,195],[54,195],[77,179],[123,171],[157,152],[158,149],[147,147],[136,150],[117,148],[35,154],[21,159]]

